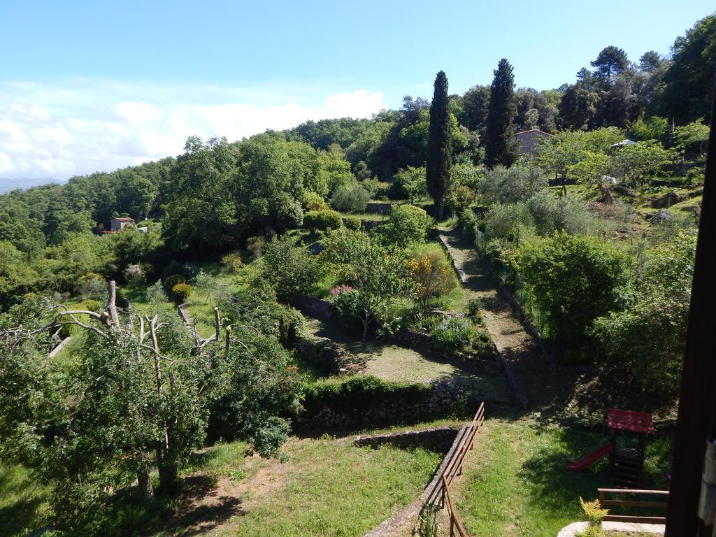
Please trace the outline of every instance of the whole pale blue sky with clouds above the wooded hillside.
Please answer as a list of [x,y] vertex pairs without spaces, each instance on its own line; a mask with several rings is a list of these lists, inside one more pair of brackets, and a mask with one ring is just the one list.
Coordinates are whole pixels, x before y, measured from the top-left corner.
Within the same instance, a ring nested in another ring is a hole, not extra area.
[[189,135],[370,117],[430,98],[440,69],[451,93],[489,84],[503,57],[518,87],[551,89],[607,45],[635,62],[669,54],[713,11],[712,0],[4,1],[0,178],[62,181],[178,155]]

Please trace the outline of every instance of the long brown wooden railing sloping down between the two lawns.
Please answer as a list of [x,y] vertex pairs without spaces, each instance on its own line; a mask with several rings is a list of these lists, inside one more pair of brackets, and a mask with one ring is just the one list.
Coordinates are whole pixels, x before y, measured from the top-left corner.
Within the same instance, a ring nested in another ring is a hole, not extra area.
[[463,522],[460,521],[458,513],[455,513],[453,508],[453,500],[450,499],[450,483],[453,483],[453,479],[456,476],[463,473],[463,461],[468,451],[473,449],[475,443],[475,434],[478,429],[482,427],[485,422],[485,403],[480,403],[478,411],[475,412],[475,417],[467,427],[463,427],[458,433],[458,443],[450,454],[448,463],[440,473],[440,479],[438,479],[433,486],[430,493],[427,495],[426,503],[440,505],[441,508],[448,510],[448,518],[450,518],[450,537],[470,537],[470,533],[465,530]]

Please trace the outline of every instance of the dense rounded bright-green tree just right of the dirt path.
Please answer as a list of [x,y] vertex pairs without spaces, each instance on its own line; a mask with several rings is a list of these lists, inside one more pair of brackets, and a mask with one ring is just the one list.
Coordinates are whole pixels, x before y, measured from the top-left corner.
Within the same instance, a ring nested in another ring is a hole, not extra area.
[[584,341],[594,319],[623,305],[627,259],[604,240],[556,233],[523,243],[517,264],[548,336],[563,345]]

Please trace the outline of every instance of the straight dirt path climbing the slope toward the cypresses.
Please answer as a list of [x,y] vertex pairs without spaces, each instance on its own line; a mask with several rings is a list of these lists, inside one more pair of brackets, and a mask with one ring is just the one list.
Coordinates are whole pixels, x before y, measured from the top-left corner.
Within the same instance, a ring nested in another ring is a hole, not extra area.
[[546,398],[556,388],[556,378],[538,343],[526,332],[510,303],[498,291],[474,244],[460,237],[457,231],[442,233],[441,238],[449,246],[458,271],[462,272],[460,277],[468,298],[483,301],[485,327],[503,354],[516,399],[525,407],[546,404]]

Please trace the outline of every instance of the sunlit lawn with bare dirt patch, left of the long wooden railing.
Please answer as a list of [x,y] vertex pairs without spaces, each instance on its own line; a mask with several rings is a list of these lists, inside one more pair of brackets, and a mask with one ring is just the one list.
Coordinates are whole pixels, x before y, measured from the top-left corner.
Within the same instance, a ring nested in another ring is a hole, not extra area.
[[[430,451],[357,448],[352,438],[291,438],[282,461],[231,442],[196,453],[183,493],[160,515],[122,502],[98,511],[90,535],[360,536],[411,503],[442,460]],[[45,523],[47,491],[0,466],[0,535]]]

